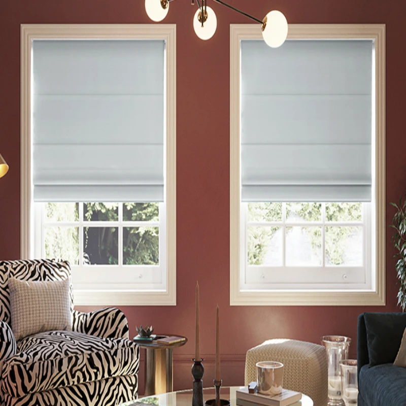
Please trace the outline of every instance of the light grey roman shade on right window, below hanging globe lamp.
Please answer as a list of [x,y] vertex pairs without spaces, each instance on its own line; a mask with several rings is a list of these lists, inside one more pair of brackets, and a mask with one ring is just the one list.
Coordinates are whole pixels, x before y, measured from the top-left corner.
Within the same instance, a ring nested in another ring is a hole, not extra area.
[[372,41],[241,42],[243,201],[370,201]]

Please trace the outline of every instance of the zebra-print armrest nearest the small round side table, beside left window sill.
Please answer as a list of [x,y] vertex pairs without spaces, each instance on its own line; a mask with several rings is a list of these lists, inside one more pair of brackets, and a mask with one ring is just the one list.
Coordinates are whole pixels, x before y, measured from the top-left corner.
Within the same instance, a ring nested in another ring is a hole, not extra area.
[[73,311],[73,331],[104,339],[128,339],[128,323],[124,313],[105,308],[90,313]]

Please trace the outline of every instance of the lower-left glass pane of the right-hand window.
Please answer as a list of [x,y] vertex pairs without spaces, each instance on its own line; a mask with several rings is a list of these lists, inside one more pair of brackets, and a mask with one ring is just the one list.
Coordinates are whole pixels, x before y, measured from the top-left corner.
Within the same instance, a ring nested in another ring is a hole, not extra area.
[[248,227],[248,265],[282,265],[282,228]]

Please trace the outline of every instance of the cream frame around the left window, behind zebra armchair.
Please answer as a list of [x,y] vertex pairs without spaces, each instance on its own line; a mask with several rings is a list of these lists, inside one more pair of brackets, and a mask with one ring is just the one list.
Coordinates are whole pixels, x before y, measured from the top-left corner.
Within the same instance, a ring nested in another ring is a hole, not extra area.
[[[145,267],[87,266],[81,276],[72,268],[75,303],[80,305],[176,306],[176,25],[175,24],[22,24],[21,25],[21,258],[33,258],[36,210],[32,199],[31,171],[31,54],[32,41],[44,39],[158,39],[166,42],[165,201],[160,204],[160,250],[166,268],[163,289],[141,288]],[[41,222],[37,210],[37,221]],[[82,219],[83,220],[83,219]],[[121,218],[122,220],[122,218]],[[120,220],[119,220],[120,221]],[[99,225],[86,222],[86,225]],[[147,225],[147,224],[145,224]],[[150,225],[150,224],[148,224]],[[133,226],[133,223],[131,224]],[[40,236],[41,238],[41,236]],[[119,247],[120,248],[120,247]],[[42,251],[42,250],[41,250]],[[120,252],[120,250],[119,250]],[[132,270],[129,270],[131,269]],[[103,278],[101,276],[103,275]],[[141,278],[140,278],[141,275]],[[120,280],[112,285],[112,279]],[[133,279],[133,283],[126,282]],[[113,286],[113,287],[112,287]],[[137,287],[138,286],[138,287]]]

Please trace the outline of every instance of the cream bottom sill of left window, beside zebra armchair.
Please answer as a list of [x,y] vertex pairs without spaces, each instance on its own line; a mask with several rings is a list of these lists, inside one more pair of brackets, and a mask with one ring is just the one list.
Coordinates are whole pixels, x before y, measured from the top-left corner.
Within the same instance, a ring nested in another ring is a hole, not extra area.
[[75,306],[176,306],[176,290],[76,290]]

